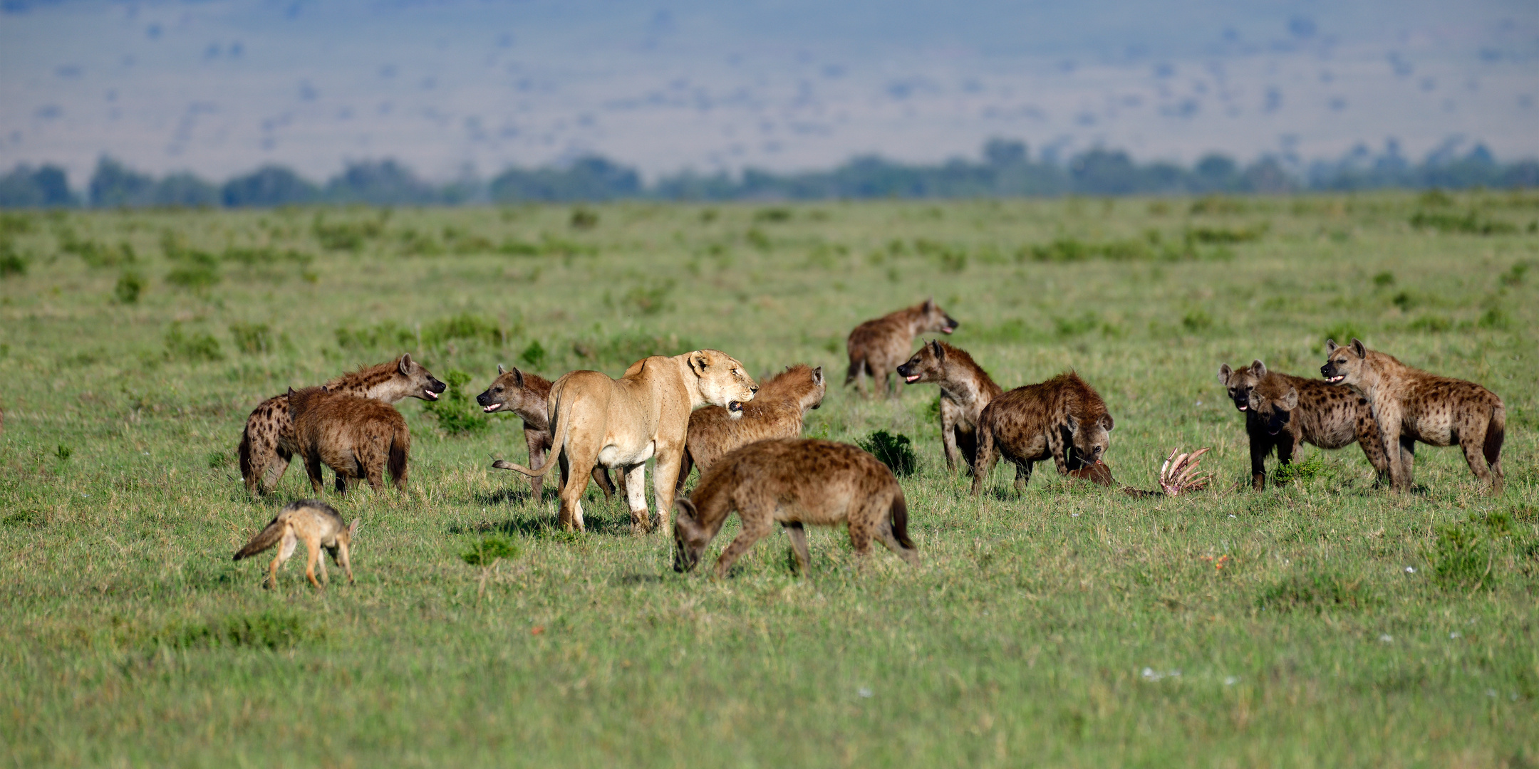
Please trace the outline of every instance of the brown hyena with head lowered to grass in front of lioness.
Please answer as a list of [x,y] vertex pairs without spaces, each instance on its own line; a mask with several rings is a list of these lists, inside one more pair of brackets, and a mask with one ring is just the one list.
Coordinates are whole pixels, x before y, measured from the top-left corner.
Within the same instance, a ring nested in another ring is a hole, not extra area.
[[700,477],[694,494],[679,500],[674,569],[694,569],[733,511],[742,520],[742,532],[716,560],[717,577],[725,577],[733,561],[776,523],[791,537],[800,574],[808,574],[811,564],[803,524],[848,524],[850,544],[862,560],[871,552],[871,540],[877,540],[919,566],[897,478],[880,460],[848,443],[773,438],[722,457]]

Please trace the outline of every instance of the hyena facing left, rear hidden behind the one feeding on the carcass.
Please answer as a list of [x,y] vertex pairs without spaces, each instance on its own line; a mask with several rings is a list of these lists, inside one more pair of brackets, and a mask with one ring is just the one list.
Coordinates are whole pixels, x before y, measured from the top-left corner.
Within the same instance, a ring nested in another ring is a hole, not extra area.
[[977,420],[1003,388],[962,348],[934,340],[897,368],[908,384],[940,384],[940,446],[946,469],[956,472],[957,457],[968,469],[977,461]]

